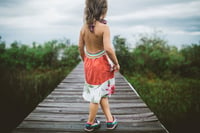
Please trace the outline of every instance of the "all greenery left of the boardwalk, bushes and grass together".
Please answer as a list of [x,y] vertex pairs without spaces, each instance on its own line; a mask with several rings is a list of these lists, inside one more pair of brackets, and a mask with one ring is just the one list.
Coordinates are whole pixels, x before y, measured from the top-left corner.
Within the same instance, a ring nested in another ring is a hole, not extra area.
[[[65,51],[62,53],[62,51]],[[80,61],[78,47],[57,40],[33,46],[0,42],[3,128],[14,128]]]

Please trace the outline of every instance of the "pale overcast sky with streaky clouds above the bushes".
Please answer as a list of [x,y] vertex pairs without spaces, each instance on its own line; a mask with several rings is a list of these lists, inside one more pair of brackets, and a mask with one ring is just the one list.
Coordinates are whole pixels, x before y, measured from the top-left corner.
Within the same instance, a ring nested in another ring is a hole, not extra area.
[[[112,37],[130,43],[161,31],[170,45],[200,41],[200,0],[108,0]],[[68,38],[78,42],[85,0],[0,0],[0,36],[8,44]]]

